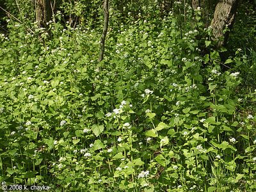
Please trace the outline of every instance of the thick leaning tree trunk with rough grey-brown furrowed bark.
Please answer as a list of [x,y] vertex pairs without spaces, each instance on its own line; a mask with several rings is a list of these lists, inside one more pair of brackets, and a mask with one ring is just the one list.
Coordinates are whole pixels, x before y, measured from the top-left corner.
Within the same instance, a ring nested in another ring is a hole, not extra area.
[[[220,0],[212,19],[213,40],[218,40],[218,47],[227,44],[229,31],[232,29],[239,0]],[[227,29],[228,28],[228,29]]]

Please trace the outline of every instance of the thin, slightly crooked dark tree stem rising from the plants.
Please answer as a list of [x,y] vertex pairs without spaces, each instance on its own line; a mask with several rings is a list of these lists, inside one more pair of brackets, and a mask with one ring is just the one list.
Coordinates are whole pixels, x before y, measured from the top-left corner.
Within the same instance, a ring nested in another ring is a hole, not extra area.
[[109,12],[108,12],[108,0],[104,0],[103,10],[104,10],[104,28],[102,32],[102,36],[100,39],[100,53],[98,61],[103,60],[104,55],[104,47],[105,47],[105,39],[108,32],[108,20],[109,20]]

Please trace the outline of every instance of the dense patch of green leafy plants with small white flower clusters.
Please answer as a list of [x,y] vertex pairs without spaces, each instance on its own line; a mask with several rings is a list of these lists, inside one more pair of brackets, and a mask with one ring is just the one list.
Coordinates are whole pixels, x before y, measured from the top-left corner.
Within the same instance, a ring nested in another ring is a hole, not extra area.
[[131,24],[111,26],[98,63],[101,31],[50,22],[49,40],[9,21],[0,181],[52,191],[255,191],[256,90],[244,86],[255,51],[235,47],[221,61],[199,17],[183,31],[172,13]]

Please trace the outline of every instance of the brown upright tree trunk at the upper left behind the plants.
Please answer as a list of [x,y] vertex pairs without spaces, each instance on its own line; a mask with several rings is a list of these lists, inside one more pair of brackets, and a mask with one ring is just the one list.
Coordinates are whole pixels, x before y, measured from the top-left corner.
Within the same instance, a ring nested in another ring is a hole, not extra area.
[[47,22],[52,18],[51,0],[36,0],[36,22],[39,28],[47,28]]

